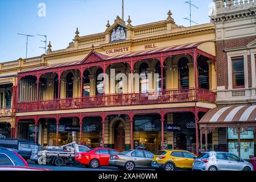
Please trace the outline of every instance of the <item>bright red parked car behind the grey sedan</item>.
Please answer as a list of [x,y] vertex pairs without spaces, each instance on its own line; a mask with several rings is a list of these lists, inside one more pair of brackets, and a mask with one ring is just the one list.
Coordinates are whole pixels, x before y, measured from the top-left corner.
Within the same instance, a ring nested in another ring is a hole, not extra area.
[[87,152],[79,152],[75,160],[90,168],[109,166],[110,155],[118,154],[113,148],[93,148]]

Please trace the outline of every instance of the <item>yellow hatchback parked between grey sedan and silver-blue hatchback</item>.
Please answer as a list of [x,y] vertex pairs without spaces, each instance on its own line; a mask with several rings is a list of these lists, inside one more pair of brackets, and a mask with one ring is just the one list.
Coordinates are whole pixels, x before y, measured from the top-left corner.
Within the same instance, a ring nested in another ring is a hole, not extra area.
[[152,160],[151,166],[156,170],[174,171],[175,169],[192,169],[192,164],[197,158],[195,154],[185,150],[161,150]]

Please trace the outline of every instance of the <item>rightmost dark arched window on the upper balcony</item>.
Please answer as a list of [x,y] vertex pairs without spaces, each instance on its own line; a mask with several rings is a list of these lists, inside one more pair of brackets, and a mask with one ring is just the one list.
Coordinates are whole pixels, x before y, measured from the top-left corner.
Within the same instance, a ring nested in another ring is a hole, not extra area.
[[209,65],[207,60],[200,59],[197,62],[198,67],[198,80],[199,80],[199,88],[208,89],[210,88],[209,84]]

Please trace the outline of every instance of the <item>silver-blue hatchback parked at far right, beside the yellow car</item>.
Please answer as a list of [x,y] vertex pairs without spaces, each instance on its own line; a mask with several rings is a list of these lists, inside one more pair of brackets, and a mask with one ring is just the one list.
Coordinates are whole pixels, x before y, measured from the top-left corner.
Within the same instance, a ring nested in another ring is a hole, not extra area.
[[253,171],[253,165],[229,152],[203,152],[193,163],[200,171]]

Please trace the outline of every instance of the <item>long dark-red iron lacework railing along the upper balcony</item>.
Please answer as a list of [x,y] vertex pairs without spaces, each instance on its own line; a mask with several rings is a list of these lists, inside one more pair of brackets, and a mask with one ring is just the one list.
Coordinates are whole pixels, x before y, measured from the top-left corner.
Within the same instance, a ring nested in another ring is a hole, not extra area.
[[93,107],[133,106],[149,104],[171,104],[179,102],[214,102],[216,93],[204,89],[177,89],[161,92],[109,94],[105,96],[61,98],[58,100],[44,100],[19,102],[17,112],[47,111],[63,109],[86,109]]

